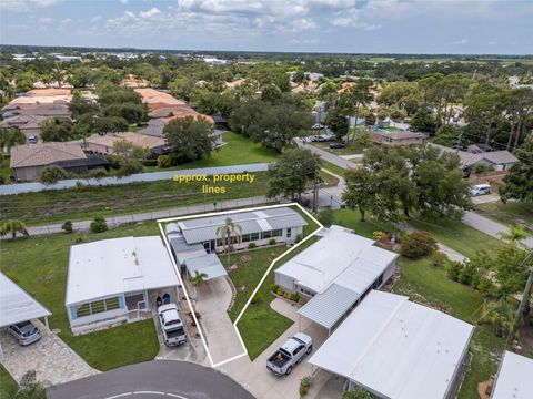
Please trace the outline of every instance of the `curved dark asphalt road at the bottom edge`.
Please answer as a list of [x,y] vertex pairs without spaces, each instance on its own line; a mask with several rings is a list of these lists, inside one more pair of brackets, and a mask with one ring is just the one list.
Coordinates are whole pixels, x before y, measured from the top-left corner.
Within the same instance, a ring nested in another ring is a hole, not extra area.
[[228,376],[187,361],[153,360],[51,387],[48,399],[253,399]]

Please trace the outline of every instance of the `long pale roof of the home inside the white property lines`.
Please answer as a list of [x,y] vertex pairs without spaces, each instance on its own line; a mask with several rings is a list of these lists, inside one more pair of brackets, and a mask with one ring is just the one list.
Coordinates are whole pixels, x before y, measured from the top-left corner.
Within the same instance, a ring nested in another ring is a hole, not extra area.
[[[306,225],[305,219],[290,207],[199,217],[180,221],[178,225],[187,243],[194,244],[219,238],[217,229],[224,225],[228,217],[239,224],[242,234]],[[174,228],[174,226],[171,227],[171,229]]]

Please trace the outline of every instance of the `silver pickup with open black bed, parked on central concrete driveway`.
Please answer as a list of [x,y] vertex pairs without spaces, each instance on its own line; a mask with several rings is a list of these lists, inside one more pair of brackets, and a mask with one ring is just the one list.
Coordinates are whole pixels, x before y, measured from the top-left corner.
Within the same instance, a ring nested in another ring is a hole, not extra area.
[[306,334],[298,332],[266,360],[266,368],[276,376],[289,376],[293,367],[312,350],[313,339]]

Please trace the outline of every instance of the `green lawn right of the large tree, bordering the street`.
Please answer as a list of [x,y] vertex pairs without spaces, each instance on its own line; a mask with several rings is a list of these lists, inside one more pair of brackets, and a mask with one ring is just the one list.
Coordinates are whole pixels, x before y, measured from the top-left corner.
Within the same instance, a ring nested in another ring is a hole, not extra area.
[[431,233],[438,242],[467,257],[475,255],[481,249],[489,254],[495,254],[497,248],[503,246],[501,241],[466,226],[460,221],[446,217],[435,221],[410,218],[409,224],[418,229]]

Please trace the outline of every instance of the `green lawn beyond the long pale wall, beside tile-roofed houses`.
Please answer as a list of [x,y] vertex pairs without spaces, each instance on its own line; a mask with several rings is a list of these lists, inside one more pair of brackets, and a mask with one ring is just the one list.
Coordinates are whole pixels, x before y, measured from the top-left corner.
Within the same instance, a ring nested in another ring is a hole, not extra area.
[[[227,143],[215,150],[210,157],[171,167],[170,170],[229,166],[253,163],[273,162],[279,154],[261,143],[254,143],[250,139],[233,132],[225,132],[223,141]],[[157,166],[144,167],[145,172],[168,171]]]

